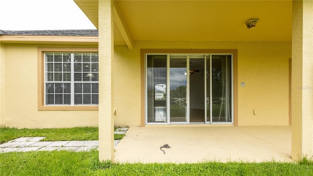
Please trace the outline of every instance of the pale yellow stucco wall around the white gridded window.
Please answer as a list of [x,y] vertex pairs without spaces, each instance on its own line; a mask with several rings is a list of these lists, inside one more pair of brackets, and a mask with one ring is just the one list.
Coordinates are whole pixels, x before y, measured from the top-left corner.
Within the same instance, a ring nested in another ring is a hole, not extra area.
[[75,46],[5,44],[2,52],[1,44],[0,124],[17,128],[98,126],[97,110],[38,110],[37,47]]

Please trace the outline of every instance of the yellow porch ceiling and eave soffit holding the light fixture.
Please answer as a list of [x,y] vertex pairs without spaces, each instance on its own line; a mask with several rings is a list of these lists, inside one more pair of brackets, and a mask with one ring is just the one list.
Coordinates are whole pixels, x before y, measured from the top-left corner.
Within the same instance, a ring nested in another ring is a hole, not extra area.
[[[98,27],[98,1],[75,0]],[[292,0],[117,0],[134,41],[291,41]],[[246,20],[259,18],[247,29]],[[125,44],[114,26],[114,43]]]

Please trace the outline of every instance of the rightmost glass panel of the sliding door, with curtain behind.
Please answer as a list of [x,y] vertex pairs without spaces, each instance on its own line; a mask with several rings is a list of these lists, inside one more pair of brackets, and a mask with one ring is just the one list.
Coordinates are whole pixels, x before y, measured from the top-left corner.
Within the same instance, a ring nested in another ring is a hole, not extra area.
[[231,55],[212,55],[212,122],[231,122]]

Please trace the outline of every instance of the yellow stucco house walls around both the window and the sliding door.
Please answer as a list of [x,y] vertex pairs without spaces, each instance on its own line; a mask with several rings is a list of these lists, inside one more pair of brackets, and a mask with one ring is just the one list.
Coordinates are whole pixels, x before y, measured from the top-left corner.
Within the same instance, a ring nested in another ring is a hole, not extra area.
[[[38,46],[5,44],[3,52],[1,44],[1,59],[5,56],[0,65],[1,125],[17,128],[98,126],[97,110],[38,110]],[[238,125],[289,125],[291,42],[139,41],[134,43],[134,49],[114,46],[112,109],[116,110],[115,126],[140,126],[141,48],[238,49]],[[3,79],[5,84],[2,84]],[[240,82],[245,82],[246,87],[240,87]],[[253,110],[258,114],[253,115]]]

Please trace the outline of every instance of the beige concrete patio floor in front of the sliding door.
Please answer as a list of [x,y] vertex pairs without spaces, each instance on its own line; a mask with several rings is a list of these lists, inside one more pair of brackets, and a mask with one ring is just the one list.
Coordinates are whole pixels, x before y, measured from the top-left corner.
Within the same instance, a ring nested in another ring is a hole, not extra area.
[[291,162],[291,126],[132,127],[115,151],[120,163]]

